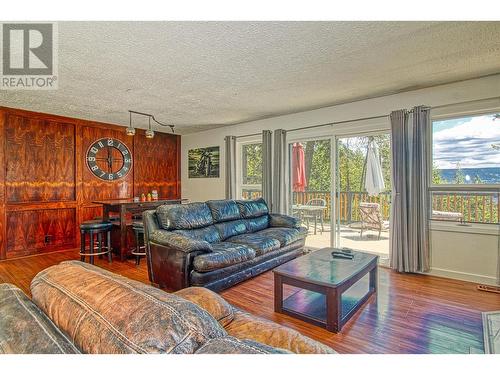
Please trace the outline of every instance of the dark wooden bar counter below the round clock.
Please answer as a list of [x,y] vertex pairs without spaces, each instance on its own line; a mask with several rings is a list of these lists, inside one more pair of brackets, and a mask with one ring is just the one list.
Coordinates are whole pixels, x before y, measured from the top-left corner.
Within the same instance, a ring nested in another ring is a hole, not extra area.
[[[120,229],[120,260],[124,261],[126,259],[126,255],[129,252],[129,244],[127,241],[127,224],[131,223],[131,220],[128,219],[127,214],[140,214],[143,211],[154,210],[156,207],[161,206],[163,204],[179,204],[182,202],[186,202],[185,199],[158,199],[153,201],[145,201],[145,202],[135,202],[133,199],[109,199],[102,201],[94,201],[94,204],[102,204],[103,207],[103,215],[102,219],[107,221],[110,219],[110,213],[118,213],[119,222],[116,224],[119,225]],[[128,220],[128,222],[127,222]]]

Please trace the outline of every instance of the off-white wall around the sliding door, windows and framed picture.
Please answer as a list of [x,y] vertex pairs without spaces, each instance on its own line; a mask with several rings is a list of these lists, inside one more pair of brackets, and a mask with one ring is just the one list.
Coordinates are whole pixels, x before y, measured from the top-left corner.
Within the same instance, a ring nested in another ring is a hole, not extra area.
[[[264,129],[294,129],[303,126],[345,121],[354,118],[386,115],[416,105],[431,107],[500,96],[500,74],[448,85],[325,107],[313,111],[251,121],[182,137],[182,197],[192,201],[224,198],[224,137],[261,132]],[[374,126],[388,127],[388,123]],[[359,123],[342,125],[356,127]],[[320,128],[318,132],[332,131]],[[309,130],[308,133],[312,134]],[[187,175],[187,152],[196,147],[220,146],[221,174],[214,179],[190,179]],[[498,262],[497,234],[478,234],[433,230],[432,273],[477,282],[495,281]]]

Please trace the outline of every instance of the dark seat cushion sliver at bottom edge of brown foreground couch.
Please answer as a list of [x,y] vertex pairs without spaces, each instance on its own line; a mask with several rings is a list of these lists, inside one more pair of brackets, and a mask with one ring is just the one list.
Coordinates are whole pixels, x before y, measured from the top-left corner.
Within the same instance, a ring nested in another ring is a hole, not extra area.
[[196,354],[288,354],[289,351],[272,348],[252,340],[238,340],[226,336],[205,343]]

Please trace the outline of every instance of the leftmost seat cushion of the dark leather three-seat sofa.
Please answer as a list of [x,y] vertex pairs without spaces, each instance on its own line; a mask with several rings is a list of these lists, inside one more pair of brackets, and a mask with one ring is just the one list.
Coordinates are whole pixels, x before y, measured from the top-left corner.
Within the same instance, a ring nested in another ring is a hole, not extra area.
[[197,255],[193,260],[193,268],[198,272],[208,272],[219,268],[246,262],[255,258],[255,250],[232,242],[212,244],[212,252]]

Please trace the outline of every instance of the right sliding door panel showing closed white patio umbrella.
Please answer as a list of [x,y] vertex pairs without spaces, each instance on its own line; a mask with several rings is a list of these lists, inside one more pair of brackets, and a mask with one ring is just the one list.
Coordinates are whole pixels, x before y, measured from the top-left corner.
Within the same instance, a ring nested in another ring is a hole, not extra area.
[[335,137],[335,245],[389,258],[389,133]]

